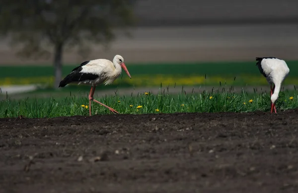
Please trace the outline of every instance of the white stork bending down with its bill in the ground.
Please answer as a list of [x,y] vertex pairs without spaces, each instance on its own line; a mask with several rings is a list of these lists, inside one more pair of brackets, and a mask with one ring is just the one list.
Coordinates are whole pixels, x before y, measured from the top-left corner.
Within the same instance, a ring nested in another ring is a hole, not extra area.
[[[278,94],[285,78],[288,76],[290,69],[284,60],[274,57],[256,58],[260,72],[266,77],[270,84],[271,95],[271,113],[273,109],[276,113],[275,102],[278,99]],[[272,88],[272,83],[274,87]]]

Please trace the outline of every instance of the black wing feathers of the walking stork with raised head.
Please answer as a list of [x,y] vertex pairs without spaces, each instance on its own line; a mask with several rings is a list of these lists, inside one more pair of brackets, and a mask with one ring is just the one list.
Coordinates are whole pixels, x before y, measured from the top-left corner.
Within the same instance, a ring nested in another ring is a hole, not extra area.
[[95,80],[98,78],[98,75],[92,73],[83,73],[80,72],[82,70],[82,66],[88,64],[89,61],[83,62],[80,66],[77,66],[73,69],[73,71],[68,74],[59,84],[59,87],[65,87],[67,84],[72,82],[80,82],[85,80]]

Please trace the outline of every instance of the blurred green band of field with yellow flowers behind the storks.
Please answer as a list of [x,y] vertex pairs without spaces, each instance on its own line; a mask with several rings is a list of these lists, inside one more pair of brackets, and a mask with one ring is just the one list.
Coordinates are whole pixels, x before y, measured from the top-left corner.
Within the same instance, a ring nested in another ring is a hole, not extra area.
[[[156,86],[215,86],[220,82],[225,85],[261,86],[267,85],[266,79],[260,74],[256,62],[213,62],[213,63],[152,63],[130,64],[132,79],[124,73],[113,85],[124,87]],[[298,61],[288,61],[291,76],[285,84],[298,84]],[[66,76],[76,67],[65,65],[63,75]],[[0,85],[40,84],[51,88],[54,83],[52,66],[1,66]],[[205,78],[206,75],[206,78]],[[235,78],[235,80],[234,80]],[[106,86],[105,86],[106,87]],[[102,87],[102,88],[105,88]]]

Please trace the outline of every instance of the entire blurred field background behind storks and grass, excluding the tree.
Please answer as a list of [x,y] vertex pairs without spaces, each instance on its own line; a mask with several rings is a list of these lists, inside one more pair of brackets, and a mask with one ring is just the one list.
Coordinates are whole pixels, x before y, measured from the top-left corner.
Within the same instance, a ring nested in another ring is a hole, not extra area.
[[[284,86],[293,90],[298,84],[297,7],[293,0],[136,0],[132,6],[136,22],[125,30],[113,26],[115,39],[108,49],[90,44],[84,57],[78,55],[78,45],[66,46],[62,74],[83,61],[112,60],[120,54],[132,79],[124,73],[112,85],[98,86],[98,95],[116,90],[127,96],[157,93],[161,83],[170,85],[172,93],[180,93],[182,86],[186,92],[234,86],[235,92],[244,88],[253,93],[254,88],[269,90],[255,57],[277,57],[290,67]],[[10,38],[0,41],[0,99],[6,92],[12,98],[47,98],[89,91],[88,86],[54,88],[53,47],[46,46],[48,58],[20,58],[16,47],[10,47]]]

